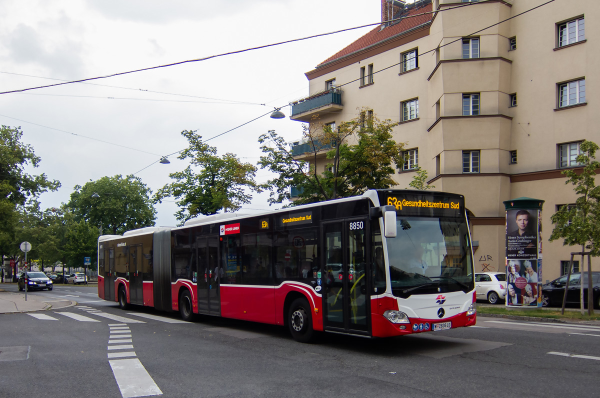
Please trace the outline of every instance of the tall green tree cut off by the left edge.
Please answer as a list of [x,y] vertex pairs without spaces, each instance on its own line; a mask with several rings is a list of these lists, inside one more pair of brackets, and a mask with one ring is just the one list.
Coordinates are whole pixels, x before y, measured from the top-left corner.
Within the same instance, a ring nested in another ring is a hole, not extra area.
[[17,206],[27,199],[37,198],[47,190],[56,190],[60,182],[50,180],[45,174],[31,175],[25,167],[38,167],[40,157],[31,145],[21,142],[20,127],[0,127],[0,260],[11,252],[16,234]]

